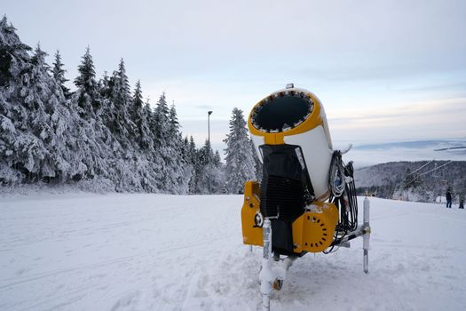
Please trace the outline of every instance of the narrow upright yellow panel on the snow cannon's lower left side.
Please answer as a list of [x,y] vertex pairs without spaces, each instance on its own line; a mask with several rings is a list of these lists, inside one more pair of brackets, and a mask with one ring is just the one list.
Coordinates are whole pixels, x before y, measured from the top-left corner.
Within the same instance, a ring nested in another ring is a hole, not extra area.
[[249,245],[263,246],[262,227],[257,227],[254,221],[260,212],[260,188],[257,181],[246,181],[244,184],[244,203],[241,208],[242,242]]

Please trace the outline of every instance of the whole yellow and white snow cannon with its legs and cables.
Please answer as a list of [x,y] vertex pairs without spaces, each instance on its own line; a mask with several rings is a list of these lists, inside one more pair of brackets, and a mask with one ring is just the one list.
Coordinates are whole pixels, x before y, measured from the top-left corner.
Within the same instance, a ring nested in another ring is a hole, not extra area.
[[[351,145],[333,149],[317,96],[288,84],[257,102],[248,127],[263,177],[245,183],[243,242],[264,247],[261,284],[278,289],[284,276],[270,270],[272,254],[286,271],[305,253],[328,253],[351,238],[368,235],[370,227],[367,219],[367,225],[358,228],[352,162],[345,165],[342,160]],[[268,292],[262,285],[261,291]]]

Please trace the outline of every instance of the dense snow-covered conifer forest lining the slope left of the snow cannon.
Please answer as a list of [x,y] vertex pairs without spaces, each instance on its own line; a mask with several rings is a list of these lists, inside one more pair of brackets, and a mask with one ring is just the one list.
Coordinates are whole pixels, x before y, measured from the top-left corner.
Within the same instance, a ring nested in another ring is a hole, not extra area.
[[[71,92],[59,51],[51,65],[46,56],[39,44],[23,44],[6,17],[0,21],[0,185],[205,194],[238,193],[244,179],[254,179],[238,111],[232,122],[242,129],[231,124],[225,168],[208,140],[197,148],[183,137],[164,93],[153,108],[139,81],[131,90],[123,60],[99,78],[88,47]],[[239,162],[246,171],[238,171]]]

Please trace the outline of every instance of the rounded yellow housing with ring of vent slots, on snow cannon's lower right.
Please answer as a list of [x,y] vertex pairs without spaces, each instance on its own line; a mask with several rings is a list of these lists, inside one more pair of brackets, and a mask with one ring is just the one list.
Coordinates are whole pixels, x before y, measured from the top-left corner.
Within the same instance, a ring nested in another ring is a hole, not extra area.
[[313,202],[312,211],[304,212],[293,222],[295,252],[325,251],[333,242],[337,221],[335,204]]

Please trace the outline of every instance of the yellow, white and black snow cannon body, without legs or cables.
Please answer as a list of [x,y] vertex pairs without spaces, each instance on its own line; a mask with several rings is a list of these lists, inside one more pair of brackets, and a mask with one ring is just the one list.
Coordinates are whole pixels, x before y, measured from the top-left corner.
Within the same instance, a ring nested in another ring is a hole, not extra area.
[[252,108],[248,126],[263,179],[245,184],[243,242],[263,245],[262,224],[269,218],[275,254],[324,251],[333,242],[338,210],[325,202],[333,149],[320,100],[287,85]]

